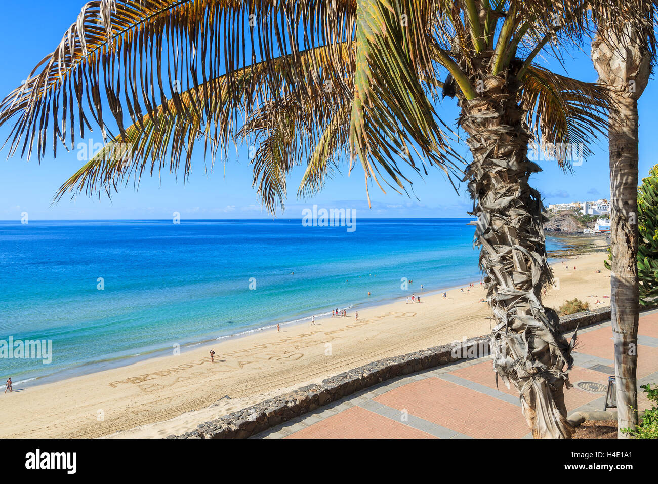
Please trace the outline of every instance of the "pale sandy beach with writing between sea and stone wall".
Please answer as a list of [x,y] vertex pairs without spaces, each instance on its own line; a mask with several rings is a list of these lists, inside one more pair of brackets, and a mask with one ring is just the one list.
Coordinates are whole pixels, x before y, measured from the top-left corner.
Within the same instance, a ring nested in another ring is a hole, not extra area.
[[[579,298],[590,308],[609,306],[606,257],[594,252],[553,264],[559,283],[549,288],[544,304],[557,309]],[[14,385],[22,390],[1,395],[0,437],[163,438],[379,358],[484,335],[492,313],[479,302],[486,291],[472,282],[470,291],[466,285],[463,293],[449,290],[447,299],[440,292],[420,293],[418,283],[410,290],[421,295],[420,303],[402,299],[359,309],[358,321],[351,310],[348,317],[227,338],[56,383]]]

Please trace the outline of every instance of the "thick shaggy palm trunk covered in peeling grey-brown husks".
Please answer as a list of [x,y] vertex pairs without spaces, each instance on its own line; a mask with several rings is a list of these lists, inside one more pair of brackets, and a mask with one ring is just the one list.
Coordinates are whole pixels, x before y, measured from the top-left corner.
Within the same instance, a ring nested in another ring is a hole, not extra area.
[[563,390],[570,387],[571,346],[553,309],[542,306],[542,288],[552,281],[544,236],[544,205],[528,184],[540,171],[528,160],[530,133],[516,102],[515,79],[507,73],[484,81],[484,93],[462,101],[461,126],[473,161],[468,191],[478,216],[475,244],[486,273],[493,329],[494,368],[519,390],[522,411],[536,439],[568,439]]

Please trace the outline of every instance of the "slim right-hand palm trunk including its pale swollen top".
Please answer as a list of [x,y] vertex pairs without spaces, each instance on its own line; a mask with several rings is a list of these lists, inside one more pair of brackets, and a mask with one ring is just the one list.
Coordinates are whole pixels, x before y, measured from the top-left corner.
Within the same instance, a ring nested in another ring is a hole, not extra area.
[[[611,196],[611,319],[615,340],[617,425],[638,423],[638,98],[651,72],[651,57],[630,29],[602,30],[592,42],[599,82],[607,84],[617,113],[609,120]],[[628,435],[618,431],[618,437]]]

